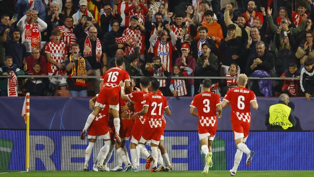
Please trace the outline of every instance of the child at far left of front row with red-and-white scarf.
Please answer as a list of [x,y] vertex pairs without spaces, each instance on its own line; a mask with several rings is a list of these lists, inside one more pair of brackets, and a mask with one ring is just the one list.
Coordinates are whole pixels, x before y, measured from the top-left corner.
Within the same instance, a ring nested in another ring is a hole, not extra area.
[[[4,63],[5,65],[0,67],[0,75],[2,76],[8,76],[8,75],[12,75],[10,74],[11,71],[14,72],[14,74],[17,75],[24,75],[24,71],[21,70],[16,64],[13,64],[13,58],[11,56],[7,56],[4,58]],[[12,83],[14,83],[15,86],[13,86],[12,84],[8,85],[8,78],[0,78],[0,96],[9,96],[8,94],[8,88],[11,90],[11,86],[12,86],[12,93],[10,93],[10,96],[17,96],[17,78],[13,77],[11,78]],[[14,95],[13,95],[14,92]]]

